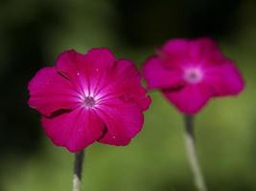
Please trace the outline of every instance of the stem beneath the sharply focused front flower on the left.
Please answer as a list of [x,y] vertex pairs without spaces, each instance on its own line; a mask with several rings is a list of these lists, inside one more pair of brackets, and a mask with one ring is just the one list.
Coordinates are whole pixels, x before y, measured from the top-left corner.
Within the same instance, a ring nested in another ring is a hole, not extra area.
[[83,150],[75,154],[72,191],[81,191],[81,171],[82,171],[83,158],[84,158]]

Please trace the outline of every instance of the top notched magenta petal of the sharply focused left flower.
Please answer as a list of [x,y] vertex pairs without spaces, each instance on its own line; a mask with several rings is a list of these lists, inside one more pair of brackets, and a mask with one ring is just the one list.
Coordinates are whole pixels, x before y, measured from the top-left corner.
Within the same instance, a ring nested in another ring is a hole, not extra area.
[[94,94],[95,87],[115,63],[114,55],[106,48],[91,49],[81,54],[74,50],[58,56],[57,68],[76,82],[85,96]]

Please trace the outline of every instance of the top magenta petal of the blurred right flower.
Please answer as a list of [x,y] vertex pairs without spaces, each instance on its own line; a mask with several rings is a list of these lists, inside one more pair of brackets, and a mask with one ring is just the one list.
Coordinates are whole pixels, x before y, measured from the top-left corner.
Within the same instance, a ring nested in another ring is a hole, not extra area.
[[185,64],[217,64],[226,58],[216,42],[208,37],[169,40],[158,55],[169,67]]

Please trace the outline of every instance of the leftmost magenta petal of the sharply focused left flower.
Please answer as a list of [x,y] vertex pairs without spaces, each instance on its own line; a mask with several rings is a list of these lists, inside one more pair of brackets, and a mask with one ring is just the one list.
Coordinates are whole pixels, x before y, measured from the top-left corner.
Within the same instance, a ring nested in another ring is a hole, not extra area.
[[78,107],[80,97],[74,85],[58,74],[55,67],[39,70],[29,83],[29,105],[42,115],[50,116],[61,109]]

